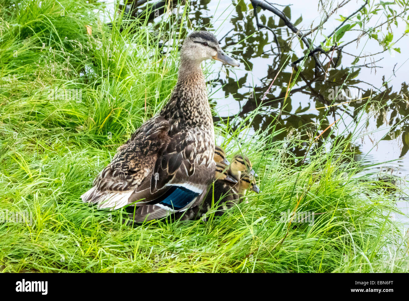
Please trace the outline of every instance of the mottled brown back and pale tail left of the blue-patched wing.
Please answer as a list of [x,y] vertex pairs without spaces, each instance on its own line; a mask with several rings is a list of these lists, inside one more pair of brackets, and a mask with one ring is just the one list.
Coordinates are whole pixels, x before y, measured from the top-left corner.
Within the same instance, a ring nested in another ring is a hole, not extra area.
[[158,153],[170,140],[169,127],[161,116],[146,121],[117,149],[112,161],[95,178],[93,187],[81,195],[82,200],[97,203],[99,208],[118,209],[128,204],[135,188],[146,178],[150,181]]

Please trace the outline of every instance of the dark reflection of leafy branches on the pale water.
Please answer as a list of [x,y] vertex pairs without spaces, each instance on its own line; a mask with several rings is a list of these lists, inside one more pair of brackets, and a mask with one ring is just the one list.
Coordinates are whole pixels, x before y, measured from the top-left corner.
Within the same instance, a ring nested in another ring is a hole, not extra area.
[[[265,94],[281,66],[289,65],[288,57],[290,57],[289,61],[296,61],[299,57],[292,51],[293,36],[288,35],[288,29],[283,23],[275,23],[272,17],[265,22],[270,28],[281,33],[277,35],[280,45],[280,51],[278,51],[276,44],[273,42],[272,37],[268,36],[267,31],[257,32],[254,17],[249,14],[243,16],[242,9],[243,7],[240,5],[236,6],[237,17],[230,19],[234,30],[225,37],[223,42],[225,45],[234,45],[236,41],[242,41],[240,42],[242,47],[240,57],[245,61],[246,70],[253,70],[253,74],[255,73],[260,78],[260,85],[247,86],[247,91],[240,93],[240,90],[237,91],[236,78],[228,77],[224,80],[219,79],[217,82],[217,85],[222,86],[226,96],[232,94],[238,100],[247,100],[238,113],[239,117],[245,117],[257,107],[259,109],[262,107],[261,111],[265,111],[265,114],[261,113],[258,118],[252,120],[252,126],[255,129],[267,128],[273,120],[278,118],[279,122],[276,129],[295,128],[299,129],[301,133],[305,133],[306,131],[323,131],[342,114],[344,116],[347,114],[356,121],[362,110],[367,112],[377,110],[377,126],[389,125],[391,128],[390,134],[383,139],[391,140],[400,136],[402,140],[400,156],[407,153],[409,149],[409,127],[408,120],[405,117],[409,114],[409,107],[407,105],[408,85],[405,82],[402,83],[399,91],[393,91],[392,87],[384,81],[384,78],[383,86],[379,91],[374,90],[372,86],[362,88],[360,84],[363,81],[360,80],[360,72],[362,68],[368,67],[352,68],[344,66],[343,55],[338,51],[332,54],[335,64],[333,68],[329,69],[327,75],[322,72],[317,74],[314,59],[308,58],[285,101],[287,84],[290,78],[294,80],[294,74],[298,70],[297,67],[292,70],[289,66],[281,70],[274,80],[274,84]],[[290,14],[290,7],[287,7],[287,11]],[[259,12],[259,18],[263,19],[262,12]],[[266,18],[264,19],[266,20]],[[254,32],[257,33],[254,34]],[[246,38],[247,36],[250,37]],[[303,54],[307,53],[308,50],[305,49]],[[253,60],[259,57],[263,57],[264,63],[268,64],[265,74],[254,72],[257,66],[254,65]],[[326,66],[328,61],[323,61],[323,63]],[[239,84],[247,81],[247,74],[238,79]],[[252,94],[253,89],[254,95]],[[337,95],[337,92],[339,92],[339,95]],[[308,101],[299,102],[300,99],[306,100],[305,96],[307,96]],[[372,107],[367,102],[369,96],[372,97]],[[363,100],[356,100],[357,98]],[[355,101],[351,101],[354,99]],[[350,103],[342,106],[331,106],[330,112],[327,114],[328,109],[326,108],[311,110],[314,107],[320,108],[343,102]],[[373,107],[373,104],[376,104],[377,107]],[[389,114],[389,118],[387,118],[387,114]],[[230,120],[231,117],[233,116],[228,116]],[[317,129],[321,120],[326,120],[326,122],[321,122],[321,128]],[[283,139],[285,135],[286,133],[283,132],[283,134],[276,136],[276,139]],[[325,133],[324,137],[326,135],[328,133]],[[293,152],[297,156],[302,156],[305,149],[293,149]]]

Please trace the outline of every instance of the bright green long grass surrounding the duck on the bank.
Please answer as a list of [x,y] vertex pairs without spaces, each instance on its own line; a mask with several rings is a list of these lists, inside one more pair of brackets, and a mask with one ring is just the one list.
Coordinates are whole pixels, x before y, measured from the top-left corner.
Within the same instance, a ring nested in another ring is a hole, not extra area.
[[[235,131],[215,124],[229,154],[249,155],[262,192],[206,222],[130,227],[124,209],[83,204],[116,148],[169,98],[178,49],[157,42],[176,46],[188,24],[182,7],[179,26],[120,33],[98,21],[99,9],[0,0],[0,212],[32,214],[31,223],[0,223],[2,272],[408,271],[408,234],[390,218],[400,191],[354,161],[352,138],[341,135],[313,144],[299,164],[291,148],[308,137],[275,140],[274,123],[254,135],[244,120]],[[55,87],[81,89],[81,102],[49,99]],[[296,208],[314,224],[281,220]]]

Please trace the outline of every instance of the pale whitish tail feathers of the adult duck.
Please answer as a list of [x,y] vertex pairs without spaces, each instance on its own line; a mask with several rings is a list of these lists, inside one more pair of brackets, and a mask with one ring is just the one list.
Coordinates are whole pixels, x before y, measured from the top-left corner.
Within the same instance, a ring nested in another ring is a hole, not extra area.
[[99,208],[119,209],[129,204],[129,197],[133,190],[101,191],[95,186],[81,195],[83,202],[97,203]]

